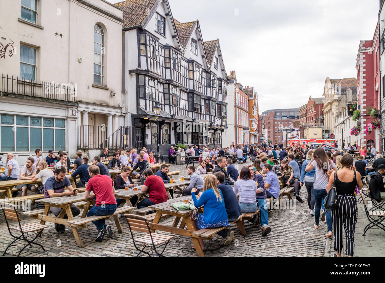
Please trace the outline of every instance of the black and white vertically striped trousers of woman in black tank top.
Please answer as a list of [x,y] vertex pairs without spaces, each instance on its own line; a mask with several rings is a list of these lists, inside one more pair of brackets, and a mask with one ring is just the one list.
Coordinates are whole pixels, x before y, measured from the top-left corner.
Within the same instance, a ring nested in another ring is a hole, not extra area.
[[333,217],[334,249],[337,253],[342,252],[342,228],[345,230],[346,246],[345,255],[354,254],[354,230],[356,228],[358,209],[355,196],[337,196],[338,209],[331,212]]

